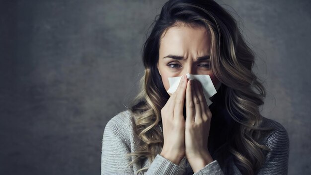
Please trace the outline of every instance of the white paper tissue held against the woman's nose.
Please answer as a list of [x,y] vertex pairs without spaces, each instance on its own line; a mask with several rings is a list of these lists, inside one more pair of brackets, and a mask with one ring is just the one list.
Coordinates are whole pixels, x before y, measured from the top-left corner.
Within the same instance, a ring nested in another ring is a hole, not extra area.
[[[219,83],[216,88],[213,85],[213,82],[209,75],[192,75],[186,74],[188,80],[198,80],[202,87],[203,87],[203,94],[206,99],[207,105],[211,105],[213,102],[209,99],[215,93],[217,93],[218,88],[220,87],[221,83]],[[169,89],[167,90],[168,93],[174,93],[177,90],[181,77],[170,77],[168,78],[169,82]]]

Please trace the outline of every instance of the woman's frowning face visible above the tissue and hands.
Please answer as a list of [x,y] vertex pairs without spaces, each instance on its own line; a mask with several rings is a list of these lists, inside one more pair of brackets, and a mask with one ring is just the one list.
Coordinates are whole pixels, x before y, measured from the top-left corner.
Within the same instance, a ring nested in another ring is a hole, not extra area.
[[209,75],[216,86],[219,80],[210,69],[210,47],[210,36],[205,27],[178,25],[163,32],[157,69],[165,89],[169,89],[169,77],[187,73]]

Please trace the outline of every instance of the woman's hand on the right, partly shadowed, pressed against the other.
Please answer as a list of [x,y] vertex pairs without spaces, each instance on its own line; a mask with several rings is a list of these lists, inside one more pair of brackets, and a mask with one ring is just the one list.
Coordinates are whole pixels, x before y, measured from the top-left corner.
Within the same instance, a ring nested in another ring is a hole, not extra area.
[[186,88],[185,154],[194,173],[214,161],[207,147],[211,118],[200,82],[189,80]]

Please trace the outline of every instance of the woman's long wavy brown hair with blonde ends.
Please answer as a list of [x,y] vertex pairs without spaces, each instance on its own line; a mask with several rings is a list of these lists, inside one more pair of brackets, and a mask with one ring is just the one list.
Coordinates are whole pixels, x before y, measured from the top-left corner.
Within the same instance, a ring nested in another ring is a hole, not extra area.
[[[255,55],[244,41],[236,20],[214,0],[169,0],[156,15],[152,31],[143,46],[145,75],[140,81],[141,90],[130,108],[140,140],[138,150],[128,154],[133,156],[130,165],[142,165],[146,159],[152,162],[163,147],[163,135],[157,126],[161,122],[160,110],[169,95],[156,65],[162,33],[178,23],[204,26],[211,37],[210,67],[222,83],[221,100],[234,126],[231,139],[226,140],[222,154],[218,154],[216,160],[229,174],[228,161],[225,160],[231,155],[242,174],[254,175],[265,161],[264,150],[270,151],[260,142],[264,133],[271,130],[260,127],[263,116],[259,106],[264,104],[265,87],[251,70]],[[148,168],[141,167],[138,172]]]

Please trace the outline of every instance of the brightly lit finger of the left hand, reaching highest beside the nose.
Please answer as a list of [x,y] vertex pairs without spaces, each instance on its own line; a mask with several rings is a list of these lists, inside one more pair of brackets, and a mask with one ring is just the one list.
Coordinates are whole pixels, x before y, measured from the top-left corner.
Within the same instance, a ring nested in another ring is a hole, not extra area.
[[184,100],[185,100],[185,93],[186,93],[186,87],[187,87],[187,78],[186,76],[182,76],[179,86],[177,87],[177,90],[175,91],[175,107],[174,107],[174,117],[182,117],[183,118],[183,106],[184,106]]

